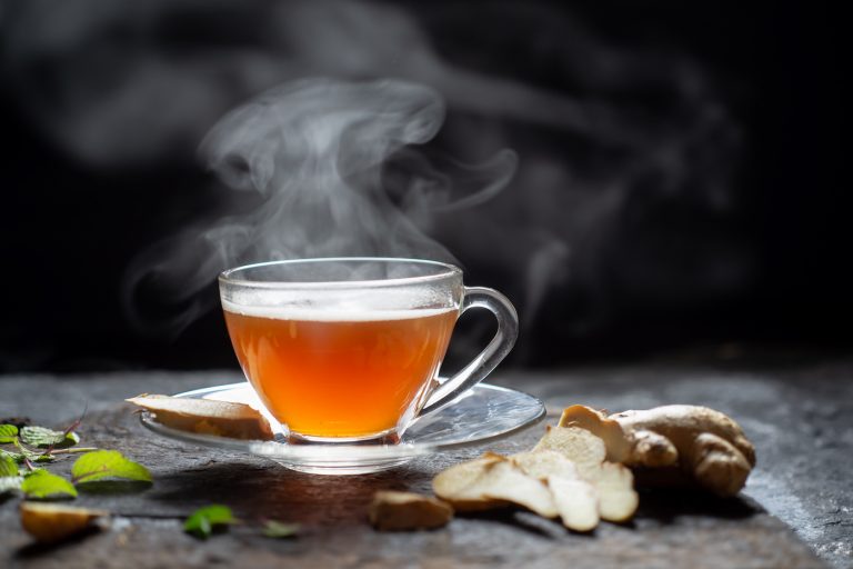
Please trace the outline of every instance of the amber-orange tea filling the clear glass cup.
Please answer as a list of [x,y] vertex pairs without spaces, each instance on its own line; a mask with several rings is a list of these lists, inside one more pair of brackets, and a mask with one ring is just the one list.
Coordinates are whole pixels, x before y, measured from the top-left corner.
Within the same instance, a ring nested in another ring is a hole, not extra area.
[[397,429],[436,377],[456,310],[364,313],[225,308],[237,358],[292,431],[363,437]]

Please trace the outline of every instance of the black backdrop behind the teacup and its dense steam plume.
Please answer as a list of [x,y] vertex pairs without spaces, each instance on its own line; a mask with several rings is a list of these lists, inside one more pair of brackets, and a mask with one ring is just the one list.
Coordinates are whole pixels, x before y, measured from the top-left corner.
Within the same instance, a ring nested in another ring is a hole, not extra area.
[[[850,66],[830,2],[142,4],[0,2],[0,371],[233,366],[215,310],[175,327],[185,299],[123,283],[152,243],[257,204],[194,149],[227,110],[313,76],[431,84],[448,120],[429,150],[518,152],[499,197],[424,223],[466,282],[519,307],[512,363],[851,345]],[[469,72],[604,119],[549,118]],[[488,332],[473,320],[461,352]]]

